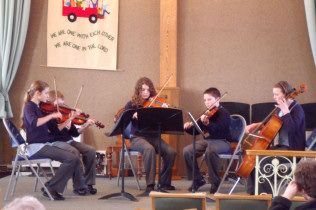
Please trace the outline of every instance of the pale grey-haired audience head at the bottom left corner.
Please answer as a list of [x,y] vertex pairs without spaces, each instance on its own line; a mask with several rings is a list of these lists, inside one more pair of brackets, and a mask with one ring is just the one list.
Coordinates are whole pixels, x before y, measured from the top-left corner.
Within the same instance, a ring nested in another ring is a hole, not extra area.
[[16,198],[6,205],[3,210],[45,210],[46,208],[36,198],[24,196]]

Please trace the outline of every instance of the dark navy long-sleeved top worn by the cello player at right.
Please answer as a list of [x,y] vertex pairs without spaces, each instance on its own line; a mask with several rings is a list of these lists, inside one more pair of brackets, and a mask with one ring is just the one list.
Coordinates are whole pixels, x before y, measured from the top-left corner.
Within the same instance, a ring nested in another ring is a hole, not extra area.
[[302,106],[293,101],[289,106],[290,113],[281,117],[282,128],[288,133],[291,150],[305,150],[305,114]]

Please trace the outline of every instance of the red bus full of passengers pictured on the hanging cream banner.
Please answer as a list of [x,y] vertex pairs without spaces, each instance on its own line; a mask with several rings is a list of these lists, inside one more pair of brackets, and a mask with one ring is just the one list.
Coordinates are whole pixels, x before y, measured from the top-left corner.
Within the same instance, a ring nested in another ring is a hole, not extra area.
[[[75,22],[77,17],[89,18],[91,23],[96,23],[98,19],[103,19],[104,14],[109,14],[103,8],[103,0],[90,0],[89,5],[85,0],[62,0],[63,16],[67,16],[70,22]],[[102,2],[99,2],[102,1]],[[101,5],[99,7],[99,5]]]

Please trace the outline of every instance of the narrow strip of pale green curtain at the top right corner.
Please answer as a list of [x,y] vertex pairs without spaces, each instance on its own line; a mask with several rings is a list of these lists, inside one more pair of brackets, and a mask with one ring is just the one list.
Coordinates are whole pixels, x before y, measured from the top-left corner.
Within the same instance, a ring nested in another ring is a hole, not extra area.
[[304,0],[306,23],[311,43],[314,64],[316,66],[316,0]]

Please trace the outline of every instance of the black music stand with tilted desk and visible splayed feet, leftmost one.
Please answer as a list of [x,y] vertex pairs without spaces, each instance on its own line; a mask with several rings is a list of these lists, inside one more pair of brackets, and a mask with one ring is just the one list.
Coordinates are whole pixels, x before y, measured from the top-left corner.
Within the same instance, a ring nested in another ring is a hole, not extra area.
[[125,190],[124,190],[125,137],[124,137],[123,133],[124,133],[124,130],[126,129],[126,127],[128,126],[128,124],[131,122],[131,119],[132,119],[132,116],[134,113],[135,113],[135,110],[124,111],[123,114],[121,115],[121,117],[117,120],[117,123],[114,125],[112,131],[109,133],[105,133],[106,136],[117,136],[117,135],[122,134],[122,149],[121,149],[121,160],[122,161],[120,163],[121,164],[121,171],[118,172],[118,173],[122,174],[122,184],[121,184],[121,192],[108,194],[108,195],[105,195],[99,199],[108,199],[108,198],[112,198],[112,197],[122,196],[122,197],[125,197],[131,201],[138,201],[132,194],[125,192]]

